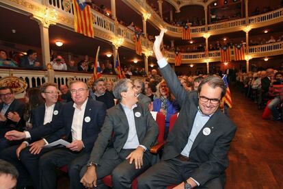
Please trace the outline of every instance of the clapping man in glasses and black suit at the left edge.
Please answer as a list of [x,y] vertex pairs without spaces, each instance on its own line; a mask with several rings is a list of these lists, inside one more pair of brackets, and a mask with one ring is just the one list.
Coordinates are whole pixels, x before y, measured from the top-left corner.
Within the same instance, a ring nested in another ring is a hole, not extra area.
[[16,116],[23,116],[25,104],[15,99],[14,92],[9,87],[0,87],[0,99],[0,138],[3,138],[7,131],[23,130],[18,125]]

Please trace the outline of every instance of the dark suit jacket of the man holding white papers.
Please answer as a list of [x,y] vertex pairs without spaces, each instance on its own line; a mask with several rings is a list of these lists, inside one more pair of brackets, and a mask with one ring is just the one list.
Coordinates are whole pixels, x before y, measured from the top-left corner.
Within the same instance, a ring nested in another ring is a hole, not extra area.
[[[59,112],[58,118],[51,121],[51,123],[41,125],[36,129],[31,129],[29,132],[31,134],[31,139],[37,140],[49,135],[45,139],[50,143],[59,140],[62,136],[66,136],[67,140],[72,142],[72,118],[75,112],[73,105],[74,102],[64,104]],[[85,151],[90,151],[92,149],[94,141],[100,132],[100,127],[103,125],[105,113],[106,106],[104,103],[87,99],[82,130],[82,141],[85,146]],[[90,118],[89,122],[85,121],[86,117]]]

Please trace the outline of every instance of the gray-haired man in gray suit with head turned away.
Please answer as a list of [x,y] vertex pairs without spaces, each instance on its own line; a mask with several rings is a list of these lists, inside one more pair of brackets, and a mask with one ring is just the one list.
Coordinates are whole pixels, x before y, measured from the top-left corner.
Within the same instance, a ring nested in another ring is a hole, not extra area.
[[113,188],[131,188],[133,179],[150,166],[149,149],[156,141],[158,127],[148,108],[137,103],[135,92],[130,79],[114,86],[120,104],[107,110],[90,160],[81,170],[83,186],[103,188],[103,177],[111,174]]

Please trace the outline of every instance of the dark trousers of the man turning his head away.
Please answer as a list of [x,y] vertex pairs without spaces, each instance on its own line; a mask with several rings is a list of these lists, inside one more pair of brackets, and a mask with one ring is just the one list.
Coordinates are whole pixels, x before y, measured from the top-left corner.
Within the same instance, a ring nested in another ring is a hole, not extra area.
[[[150,153],[144,153],[144,164],[142,168],[136,169],[135,162],[129,164],[129,160],[125,160],[132,151],[133,149],[123,149],[116,160],[110,160],[104,155],[101,157],[100,164],[96,167],[97,188],[107,188],[102,181],[107,175],[112,176],[113,188],[131,188],[133,179],[146,171],[152,158]],[[86,169],[87,167],[84,166],[81,170],[81,177],[85,174]]]

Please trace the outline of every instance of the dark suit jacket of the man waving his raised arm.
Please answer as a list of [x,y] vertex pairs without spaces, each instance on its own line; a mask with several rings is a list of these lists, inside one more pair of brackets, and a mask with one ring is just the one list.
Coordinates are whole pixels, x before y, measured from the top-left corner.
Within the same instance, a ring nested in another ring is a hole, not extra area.
[[[181,87],[180,81],[169,64],[161,68],[161,73],[181,106],[180,114],[168,135],[163,151],[162,160],[170,160],[180,155],[188,142],[198,112],[198,94],[186,92]],[[207,136],[203,134],[203,129],[206,127],[211,129],[211,134]],[[201,185],[224,174],[228,167],[230,142],[236,129],[234,123],[217,110],[200,130],[189,153],[189,166],[193,168],[191,177]]]

